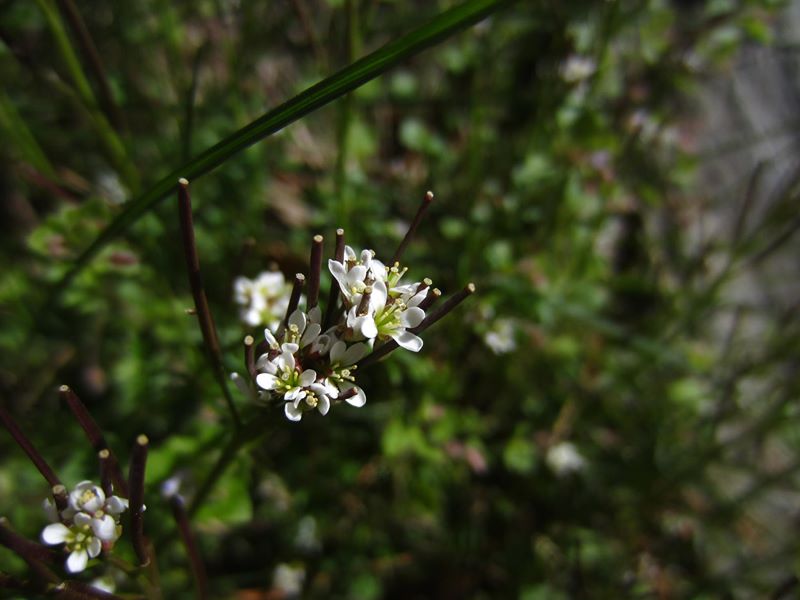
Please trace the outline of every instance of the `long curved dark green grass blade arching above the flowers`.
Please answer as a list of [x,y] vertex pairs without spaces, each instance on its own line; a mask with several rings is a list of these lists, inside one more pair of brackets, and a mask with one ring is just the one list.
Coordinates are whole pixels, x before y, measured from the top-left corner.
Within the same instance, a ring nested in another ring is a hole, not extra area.
[[125,209],[103,230],[76,259],[75,265],[56,284],[53,298],[72,282],[97,253],[124,233],[158,202],[172,195],[178,178],[192,181],[225,162],[228,158],[325,106],[364,83],[378,77],[400,61],[418,54],[454,33],[477,23],[514,0],[467,0],[428,21],[418,29],[389,42],[375,52],[348,65],[331,77],[262,115],[249,125],[208,148],[197,157],[176,168],[149,190],[131,200]]

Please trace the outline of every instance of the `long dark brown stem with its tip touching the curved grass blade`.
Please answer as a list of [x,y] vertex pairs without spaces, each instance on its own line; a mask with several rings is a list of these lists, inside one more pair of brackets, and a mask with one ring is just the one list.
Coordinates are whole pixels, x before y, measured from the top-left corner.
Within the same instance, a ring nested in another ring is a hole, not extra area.
[[192,222],[192,201],[189,196],[189,182],[186,179],[178,180],[178,211],[180,213],[181,235],[183,238],[183,252],[186,256],[186,269],[189,273],[189,285],[192,288],[194,307],[197,311],[200,331],[203,334],[203,342],[208,350],[209,360],[214,369],[217,384],[222,390],[228,411],[231,413],[234,427],[238,430],[241,426],[239,413],[233,403],[230,389],[228,388],[228,378],[225,374],[225,367],[222,362],[222,352],[219,348],[219,338],[217,328],[214,326],[214,318],[208,307],[208,299],[203,287],[203,278],[200,275],[200,259],[197,255],[197,247],[194,242],[194,224]]

